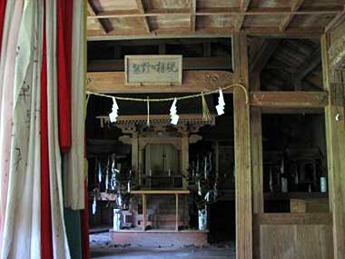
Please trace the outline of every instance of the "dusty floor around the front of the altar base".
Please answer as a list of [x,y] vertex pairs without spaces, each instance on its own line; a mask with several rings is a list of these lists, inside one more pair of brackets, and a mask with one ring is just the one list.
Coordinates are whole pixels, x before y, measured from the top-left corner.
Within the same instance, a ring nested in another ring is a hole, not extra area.
[[235,258],[233,244],[210,245],[207,247],[140,247],[113,245],[108,233],[90,235],[91,258],[116,259],[225,259]]

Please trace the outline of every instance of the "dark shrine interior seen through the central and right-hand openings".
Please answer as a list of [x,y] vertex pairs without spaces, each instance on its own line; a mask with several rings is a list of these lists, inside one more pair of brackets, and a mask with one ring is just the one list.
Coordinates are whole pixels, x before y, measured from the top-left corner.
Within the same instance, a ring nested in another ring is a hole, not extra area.
[[[319,40],[253,36],[249,37],[248,52],[250,68],[262,66],[260,80],[255,75],[251,77],[262,92],[322,89]],[[229,38],[90,41],[88,72],[123,72],[125,55],[182,55],[183,72],[232,72]],[[189,93],[152,94],[139,90],[116,96],[153,99],[183,95]],[[151,103],[148,125],[144,102],[118,100],[118,120],[111,123],[108,115],[112,99],[90,97],[85,126],[91,234],[110,231],[112,237],[106,243],[154,245],[150,242],[155,239],[148,234],[177,231],[186,239],[192,238],[195,245],[234,249],[232,93],[224,94],[224,99],[224,115],[219,116],[215,109],[218,93],[205,96],[210,112],[206,120],[202,119],[201,98],[179,101],[178,125],[171,125],[164,117],[169,114],[171,102]],[[328,190],[321,183],[328,177],[323,109],[261,111],[258,130],[262,135],[264,213],[297,213],[303,209],[328,212]],[[183,144],[185,137],[187,143]],[[135,151],[133,139],[139,146]],[[123,179],[116,178],[117,174],[123,174]],[[200,179],[205,188],[202,192],[209,195],[206,202],[197,197]],[[118,189],[116,181],[122,184],[123,205],[121,211],[115,212],[120,208],[114,191]],[[186,190],[190,191],[182,192]],[[153,193],[143,198],[141,191]],[[169,191],[181,193],[172,195]],[[200,206],[207,207],[207,229],[198,225]],[[116,213],[121,214],[122,225],[114,230]],[[128,237],[134,233],[147,237]],[[96,237],[92,240],[96,242]],[[181,243],[181,236],[172,237],[169,242],[158,245],[189,245],[188,241]]]

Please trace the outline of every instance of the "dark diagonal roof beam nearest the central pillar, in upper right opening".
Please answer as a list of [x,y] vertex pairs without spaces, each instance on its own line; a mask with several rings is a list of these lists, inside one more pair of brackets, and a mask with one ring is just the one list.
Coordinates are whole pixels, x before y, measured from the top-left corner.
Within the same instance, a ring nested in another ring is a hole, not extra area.
[[281,39],[265,39],[251,62],[251,71],[261,72],[275,52]]

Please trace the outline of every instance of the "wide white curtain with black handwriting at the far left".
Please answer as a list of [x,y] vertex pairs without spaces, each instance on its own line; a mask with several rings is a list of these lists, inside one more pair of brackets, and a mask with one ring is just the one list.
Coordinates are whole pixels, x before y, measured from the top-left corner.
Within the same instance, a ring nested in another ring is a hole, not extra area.
[[42,32],[43,3],[25,1],[16,45],[11,159],[1,258],[41,257],[39,111]]

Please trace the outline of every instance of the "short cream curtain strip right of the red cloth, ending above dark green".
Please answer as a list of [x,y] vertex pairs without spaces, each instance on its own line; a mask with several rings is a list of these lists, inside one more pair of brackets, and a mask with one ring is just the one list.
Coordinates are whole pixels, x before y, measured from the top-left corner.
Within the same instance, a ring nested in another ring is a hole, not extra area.
[[84,1],[74,0],[72,42],[72,145],[64,155],[64,205],[84,209]]

